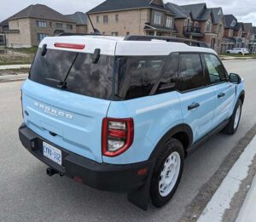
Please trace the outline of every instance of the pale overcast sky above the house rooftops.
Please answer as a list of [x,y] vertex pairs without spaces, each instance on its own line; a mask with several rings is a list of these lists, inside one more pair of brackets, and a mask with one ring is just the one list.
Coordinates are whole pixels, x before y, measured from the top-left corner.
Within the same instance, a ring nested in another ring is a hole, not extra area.
[[[129,0],[125,0],[129,1]],[[0,21],[26,8],[30,4],[46,4],[61,14],[73,14],[76,11],[86,12],[103,0],[0,0]],[[165,0],[168,2],[168,0]],[[222,7],[224,14],[234,14],[241,22],[253,22],[256,26],[255,0],[172,0],[177,4],[207,3],[207,7]]]

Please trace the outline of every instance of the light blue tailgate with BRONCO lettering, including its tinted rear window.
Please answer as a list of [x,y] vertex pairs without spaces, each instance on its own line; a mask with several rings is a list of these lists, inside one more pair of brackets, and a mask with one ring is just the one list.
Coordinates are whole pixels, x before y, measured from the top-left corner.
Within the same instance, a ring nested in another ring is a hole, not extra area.
[[102,119],[112,97],[113,56],[47,49],[22,87],[25,123],[54,145],[102,162]]

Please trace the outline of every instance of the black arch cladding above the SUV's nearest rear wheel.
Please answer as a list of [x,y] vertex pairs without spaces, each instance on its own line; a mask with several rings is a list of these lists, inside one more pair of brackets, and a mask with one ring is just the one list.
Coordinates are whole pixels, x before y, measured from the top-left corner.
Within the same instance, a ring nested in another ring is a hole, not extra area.
[[170,138],[177,139],[182,143],[186,155],[187,149],[193,143],[193,131],[187,124],[179,124],[176,127],[169,129],[157,143],[149,159],[154,159],[155,157],[157,157],[162,149],[162,146]]

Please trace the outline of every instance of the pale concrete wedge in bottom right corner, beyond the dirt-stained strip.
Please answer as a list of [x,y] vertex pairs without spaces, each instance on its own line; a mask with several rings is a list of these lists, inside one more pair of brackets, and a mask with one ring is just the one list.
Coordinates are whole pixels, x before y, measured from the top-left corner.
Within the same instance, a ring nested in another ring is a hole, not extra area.
[[256,176],[253,185],[247,193],[247,198],[243,203],[236,222],[255,222],[256,221]]

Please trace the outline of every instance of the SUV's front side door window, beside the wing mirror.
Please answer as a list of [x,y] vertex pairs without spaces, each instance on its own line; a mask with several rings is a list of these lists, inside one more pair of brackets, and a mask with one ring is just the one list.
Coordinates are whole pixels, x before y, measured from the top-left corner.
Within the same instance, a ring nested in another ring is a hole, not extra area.
[[214,84],[225,81],[226,71],[218,58],[213,54],[205,54],[204,58],[207,64],[210,83]]

